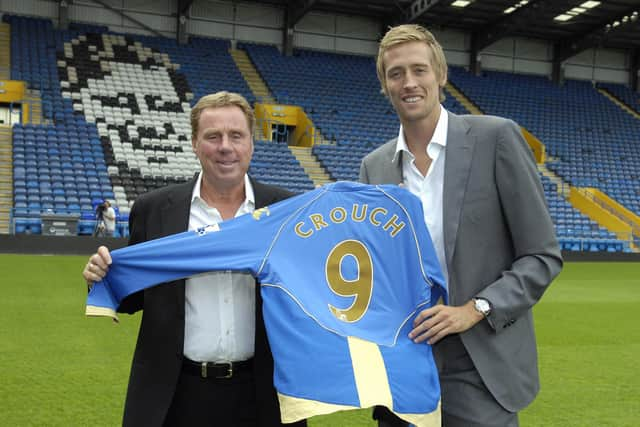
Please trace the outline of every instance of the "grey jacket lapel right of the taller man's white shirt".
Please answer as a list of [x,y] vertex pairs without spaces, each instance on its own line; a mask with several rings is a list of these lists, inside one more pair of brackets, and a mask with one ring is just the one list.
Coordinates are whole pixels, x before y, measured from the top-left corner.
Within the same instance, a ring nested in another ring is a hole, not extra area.
[[447,266],[450,266],[455,251],[475,137],[469,134],[469,125],[462,117],[452,113],[448,114],[449,129],[444,166],[442,215],[445,257]]

